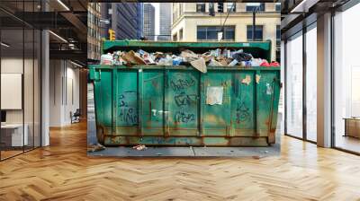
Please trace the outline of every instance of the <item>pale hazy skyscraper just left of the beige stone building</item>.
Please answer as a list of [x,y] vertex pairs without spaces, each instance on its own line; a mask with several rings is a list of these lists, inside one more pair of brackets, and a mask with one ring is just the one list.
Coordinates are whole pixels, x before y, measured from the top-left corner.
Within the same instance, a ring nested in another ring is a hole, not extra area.
[[157,40],[171,39],[171,3],[160,4],[160,36]]

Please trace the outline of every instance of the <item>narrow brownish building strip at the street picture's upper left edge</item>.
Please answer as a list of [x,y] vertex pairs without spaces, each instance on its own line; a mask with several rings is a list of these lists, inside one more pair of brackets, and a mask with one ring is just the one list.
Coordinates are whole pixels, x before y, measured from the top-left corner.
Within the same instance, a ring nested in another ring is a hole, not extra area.
[[101,48],[101,4],[87,4],[87,58],[92,61],[100,60]]

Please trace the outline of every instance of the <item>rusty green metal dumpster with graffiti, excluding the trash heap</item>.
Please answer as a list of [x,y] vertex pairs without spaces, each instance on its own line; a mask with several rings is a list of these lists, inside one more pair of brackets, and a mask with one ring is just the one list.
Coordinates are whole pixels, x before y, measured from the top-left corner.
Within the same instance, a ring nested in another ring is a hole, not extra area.
[[[243,48],[270,57],[270,42],[105,41],[114,50]],[[279,67],[89,66],[96,133],[104,145],[267,146],[275,143]],[[220,102],[219,102],[220,101]]]

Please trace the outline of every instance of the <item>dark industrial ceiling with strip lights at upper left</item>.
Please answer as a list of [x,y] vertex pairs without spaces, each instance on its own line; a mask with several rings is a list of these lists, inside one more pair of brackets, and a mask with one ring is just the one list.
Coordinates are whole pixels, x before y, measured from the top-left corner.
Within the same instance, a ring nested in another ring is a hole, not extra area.
[[2,40],[10,45],[7,48],[9,52],[14,50],[16,54],[23,48],[28,52],[33,44],[30,39],[25,39],[23,45],[23,35],[27,37],[30,32],[27,30],[50,30],[56,34],[49,34],[50,58],[76,58],[85,64],[86,6],[87,1],[84,0],[42,0],[42,4],[40,0],[1,0],[0,24],[4,34]]

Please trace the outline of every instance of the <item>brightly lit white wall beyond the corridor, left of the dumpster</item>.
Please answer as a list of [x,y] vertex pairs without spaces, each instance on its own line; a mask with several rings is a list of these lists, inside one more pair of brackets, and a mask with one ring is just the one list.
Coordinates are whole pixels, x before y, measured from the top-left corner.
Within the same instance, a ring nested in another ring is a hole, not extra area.
[[49,126],[71,124],[70,112],[79,108],[79,70],[65,60],[50,60]]

